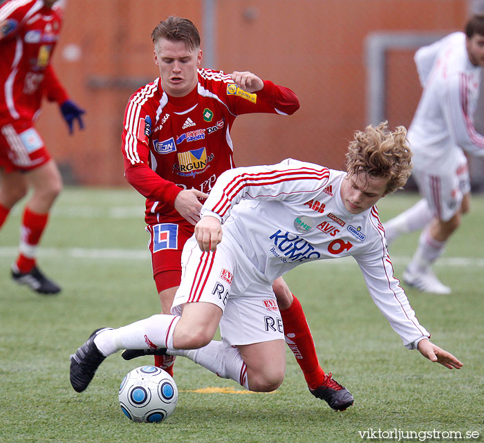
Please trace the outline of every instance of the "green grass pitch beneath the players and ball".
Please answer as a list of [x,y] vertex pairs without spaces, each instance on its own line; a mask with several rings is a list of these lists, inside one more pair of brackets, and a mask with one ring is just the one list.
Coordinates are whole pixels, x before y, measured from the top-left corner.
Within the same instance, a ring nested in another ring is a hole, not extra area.
[[[416,199],[402,193],[384,198],[380,218]],[[472,212],[435,268],[453,294],[407,291],[420,323],[464,362],[461,370],[402,346],[354,261],[308,263],[286,281],[304,307],[322,366],[353,393],[354,406],[335,413],[310,395],[290,350],[286,379],[270,394],[193,392],[242,389],[178,357],[178,406],[162,424],[134,424],[118,405],[120,381],[132,368],[151,364],[149,357],[109,357],[82,394],[68,380],[69,355],[95,328],[123,326],[160,310],[143,205],[133,189],[64,191],[39,250],[42,269],[63,286],[58,296],[39,296],[10,281],[21,209],[12,211],[0,232],[0,442],[360,442],[390,437],[390,431],[434,432],[434,438],[440,432],[440,440],[449,432],[477,433],[474,441],[482,441],[483,196],[473,197]],[[417,238],[391,245],[396,276]]]

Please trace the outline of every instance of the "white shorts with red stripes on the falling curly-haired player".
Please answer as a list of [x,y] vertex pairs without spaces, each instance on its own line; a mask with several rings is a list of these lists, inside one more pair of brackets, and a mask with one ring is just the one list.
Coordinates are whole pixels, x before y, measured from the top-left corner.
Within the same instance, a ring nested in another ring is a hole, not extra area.
[[183,303],[204,301],[223,311],[222,340],[230,346],[284,339],[281,313],[267,281],[223,232],[215,252],[202,252],[195,237],[182,254],[182,279],[171,307],[181,313]]

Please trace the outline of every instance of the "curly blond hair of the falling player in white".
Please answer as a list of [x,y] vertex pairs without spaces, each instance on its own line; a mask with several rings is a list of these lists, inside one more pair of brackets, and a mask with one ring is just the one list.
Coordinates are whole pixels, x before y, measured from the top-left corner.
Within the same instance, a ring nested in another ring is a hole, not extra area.
[[363,172],[372,178],[388,177],[385,194],[391,194],[407,182],[412,169],[411,155],[404,126],[391,132],[387,122],[376,127],[370,124],[364,131],[355,132],[346,153],[346,171],[349,176]]

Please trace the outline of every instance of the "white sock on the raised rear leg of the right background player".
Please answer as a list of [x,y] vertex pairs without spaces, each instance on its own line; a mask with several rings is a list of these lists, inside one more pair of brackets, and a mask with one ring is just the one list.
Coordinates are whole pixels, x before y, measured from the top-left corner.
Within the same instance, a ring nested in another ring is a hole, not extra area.
[[422,229],[430,223],[432,218],[434,218],[434,214],[432,214],[427,200],[425,198],[418,200],[415,205],[403,211],[402,214],[398,214],[383,224],[387,242],[391,243],[401,234]]

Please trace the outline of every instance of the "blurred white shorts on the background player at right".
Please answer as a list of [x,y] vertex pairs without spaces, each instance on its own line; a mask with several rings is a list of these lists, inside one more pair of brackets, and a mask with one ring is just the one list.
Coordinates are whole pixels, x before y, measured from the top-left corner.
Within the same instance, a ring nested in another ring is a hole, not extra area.
[[460,209],[463,196],[471,190],[467,158],[462,153],[447,170],[436,167],[413,170],[420,194],[427,200],[434,216],[447,221]]

